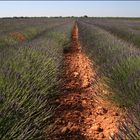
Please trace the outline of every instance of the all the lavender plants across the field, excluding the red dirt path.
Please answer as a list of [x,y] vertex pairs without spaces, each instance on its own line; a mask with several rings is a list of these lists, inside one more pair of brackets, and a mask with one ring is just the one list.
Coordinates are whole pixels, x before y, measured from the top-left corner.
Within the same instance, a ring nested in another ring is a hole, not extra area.
[[140,19],[36,17],[0,19],[0,140],[55,135],[55,101],[64,94],[64,55],[75,24],[97,72],[92,86],[109,87],[109,94],[98,95],[126,112],[109,138],[140,139]]

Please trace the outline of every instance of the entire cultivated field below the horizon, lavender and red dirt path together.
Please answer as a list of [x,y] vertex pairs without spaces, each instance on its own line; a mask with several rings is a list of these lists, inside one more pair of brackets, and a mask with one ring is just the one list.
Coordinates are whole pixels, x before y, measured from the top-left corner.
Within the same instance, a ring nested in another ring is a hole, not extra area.
[[140,139],[140,19],[0,19],[0,139]]

